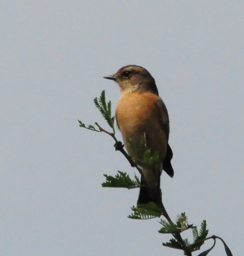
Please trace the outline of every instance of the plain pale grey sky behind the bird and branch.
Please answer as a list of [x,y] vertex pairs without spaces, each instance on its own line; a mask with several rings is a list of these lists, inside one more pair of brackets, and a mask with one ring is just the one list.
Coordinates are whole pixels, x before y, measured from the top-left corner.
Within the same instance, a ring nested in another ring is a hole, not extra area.
[[127,64],[149,70],[169,112],[169,215],[206,219],[243,253],[243,1],[3,0],[0,13],[1,255],[183,255],[157,219],[127,218],[138,190],[101,187],[136,170],[77,122],[108,129],[93,99],[105,89],[115,110],[102,76]]

